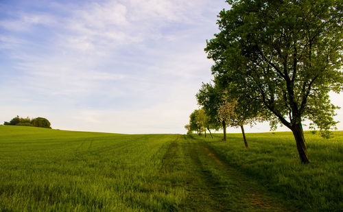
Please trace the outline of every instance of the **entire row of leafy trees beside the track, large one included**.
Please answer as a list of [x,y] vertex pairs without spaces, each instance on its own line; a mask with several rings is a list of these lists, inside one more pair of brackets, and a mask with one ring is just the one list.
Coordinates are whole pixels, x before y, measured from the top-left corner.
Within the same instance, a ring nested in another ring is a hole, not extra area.
[[200,109],[190,115],[188,132],[241,128],[269,121],[294,134],[302,163],[309,163],[303,121],[331,136],[338,106],[329,92],[343,89],[342,1],[228,0],[220,32],[204,49],[215,64],[213,82],[196,94]]

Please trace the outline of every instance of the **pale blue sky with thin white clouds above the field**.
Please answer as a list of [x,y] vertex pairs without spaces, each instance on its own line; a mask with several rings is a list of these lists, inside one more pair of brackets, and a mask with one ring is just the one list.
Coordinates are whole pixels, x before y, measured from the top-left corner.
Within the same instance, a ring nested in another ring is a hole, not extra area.
[[[61,130],[185,133],[195,95],[212,79],[204,47],[223,8],[224,0],[0,0],[0,123],[19,115]],[[343,107],[342,94],[331,101]],[[267,131],[268,123],[246,129]]]

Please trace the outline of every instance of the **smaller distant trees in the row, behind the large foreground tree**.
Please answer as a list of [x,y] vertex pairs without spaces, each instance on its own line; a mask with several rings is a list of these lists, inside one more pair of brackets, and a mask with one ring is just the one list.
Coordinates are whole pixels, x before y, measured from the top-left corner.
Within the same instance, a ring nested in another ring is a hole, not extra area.
[[206,137],[206,130],[211,134],[211,129],[222,129],[223,141],[226,141],[227,127],[241,128],[244,144],[248,148],[244,125],[252,126],[257,121],[263,121],[263,116],[259,114],[253,102],[246,104],[247,102],[240,101],[233,92],[211,83],[202,84],[196,98],[202,107],[194,110],[189,116],[189,125],[185,126],[188,132],[204,132]]

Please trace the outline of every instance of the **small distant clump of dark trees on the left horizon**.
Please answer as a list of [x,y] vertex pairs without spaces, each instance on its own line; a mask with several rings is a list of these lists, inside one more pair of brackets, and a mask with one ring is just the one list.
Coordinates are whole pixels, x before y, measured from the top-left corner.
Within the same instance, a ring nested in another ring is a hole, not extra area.
[[3,125],[12,125],[12,126],[33,126],[38,128],[51,128],[51,123],[49,120],[37,117],[34,119],[22,118],[19,116],[14,117],[11,121],[5,121]]

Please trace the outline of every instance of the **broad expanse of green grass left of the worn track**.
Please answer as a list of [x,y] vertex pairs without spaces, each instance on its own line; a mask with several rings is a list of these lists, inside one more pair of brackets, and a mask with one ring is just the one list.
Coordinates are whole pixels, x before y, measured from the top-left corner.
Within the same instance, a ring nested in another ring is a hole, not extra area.
[[0,211],[165,211],[183,190],[156,185],[176,134],[0,126]]

